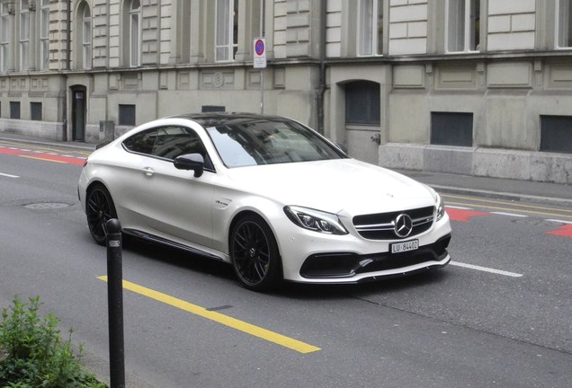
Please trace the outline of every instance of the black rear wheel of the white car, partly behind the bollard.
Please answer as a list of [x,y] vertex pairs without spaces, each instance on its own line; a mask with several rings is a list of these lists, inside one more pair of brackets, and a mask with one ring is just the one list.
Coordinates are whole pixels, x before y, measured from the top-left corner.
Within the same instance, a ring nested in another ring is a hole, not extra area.
[[85,198],[85,214],[87,226],[95,242],[105,245],[107,241],[107,221],[117,218],[112,195],[101,184],[97,184],[87,191]]

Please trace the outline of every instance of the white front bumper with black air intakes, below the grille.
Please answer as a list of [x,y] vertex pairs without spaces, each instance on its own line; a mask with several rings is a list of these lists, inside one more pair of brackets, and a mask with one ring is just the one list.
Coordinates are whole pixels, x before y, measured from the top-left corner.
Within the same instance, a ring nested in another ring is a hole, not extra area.
[[[437,269],[449,263],[449,216],[435,222],[418,240],[416,251],[390,253],[392,241],[362,238],[355,228],[345,235],[319,234],[294,225],[289,219],[273,220],[282,256],[284,278],[299,283],[354,284]],[[349,223],[344,223],[349,225]]]

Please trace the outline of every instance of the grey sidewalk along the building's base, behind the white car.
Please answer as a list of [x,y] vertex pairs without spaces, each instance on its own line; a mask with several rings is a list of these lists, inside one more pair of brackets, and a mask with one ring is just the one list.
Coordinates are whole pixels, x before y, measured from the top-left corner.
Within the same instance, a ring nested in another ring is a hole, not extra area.
[[[13,140],[38,145],[55,145],[85,150],[94,150],[96,145],[82,142],[47,140],[40,137],[25,137],[3,132],[0,132],[0,140]],[[501,198],[513,201],[530,201],[546,205],[572,207],[572,186],[569,185],[537,181],[515,181],[442,172],[416,172],[405,169],[396,171],[416,181],[421,181],[442,193]]]

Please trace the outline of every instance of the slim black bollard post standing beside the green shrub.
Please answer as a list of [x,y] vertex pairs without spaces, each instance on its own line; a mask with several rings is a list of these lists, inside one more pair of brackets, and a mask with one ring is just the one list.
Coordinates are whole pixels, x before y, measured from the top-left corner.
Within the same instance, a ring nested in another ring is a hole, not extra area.
[[121,267],[121,224],[107,221],[107,304],[109,310],[110,388],[125,388],[123,348],[123,270]]

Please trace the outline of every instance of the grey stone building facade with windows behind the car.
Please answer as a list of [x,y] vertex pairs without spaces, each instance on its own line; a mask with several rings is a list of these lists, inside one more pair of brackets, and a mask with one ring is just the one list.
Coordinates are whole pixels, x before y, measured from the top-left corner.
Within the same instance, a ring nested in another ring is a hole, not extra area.
[[370,163],[571,183],[570,2],[0,0],[0,132],[264,111]]

